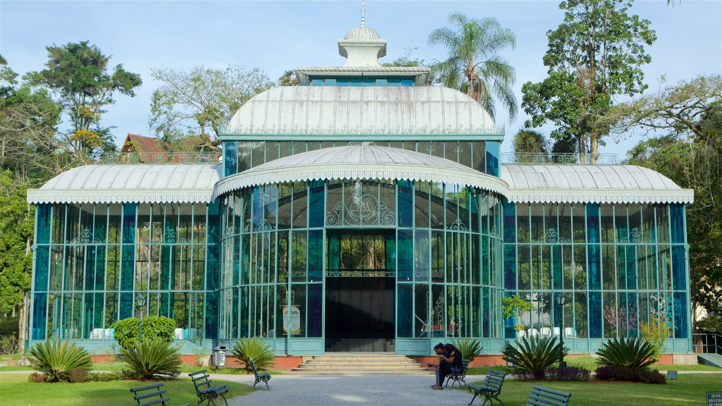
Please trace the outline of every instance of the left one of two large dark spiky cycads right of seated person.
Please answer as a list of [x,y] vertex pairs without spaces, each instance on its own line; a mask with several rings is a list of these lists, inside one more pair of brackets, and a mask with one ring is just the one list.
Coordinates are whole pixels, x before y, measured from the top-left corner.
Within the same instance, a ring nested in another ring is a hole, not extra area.
[[521,371],[528,371],[534,379],[544,379],[544,371],[567,354],[567,349],[562,347],[557,338],[522,338],[517,341],[517,347],[507,344],[503,351],[504,360],[515,363],[516,368]]

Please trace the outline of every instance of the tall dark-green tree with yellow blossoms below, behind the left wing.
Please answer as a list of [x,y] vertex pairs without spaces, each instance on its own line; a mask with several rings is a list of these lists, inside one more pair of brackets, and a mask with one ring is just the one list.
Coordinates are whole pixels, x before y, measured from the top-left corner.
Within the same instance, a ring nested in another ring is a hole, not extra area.
[[74,158],[90,163],[103,152],[115,150],[110,127],[100,120],[108,105],[115,103],[113,95],[119,92],[133,97],[142,84],[139,74],[128,72],[122,64],[110,72],[110,56],[88,41],[48,46],[46,69],[31,72],[32,85],[50,89],[70,118],[71,129],[62,134]]

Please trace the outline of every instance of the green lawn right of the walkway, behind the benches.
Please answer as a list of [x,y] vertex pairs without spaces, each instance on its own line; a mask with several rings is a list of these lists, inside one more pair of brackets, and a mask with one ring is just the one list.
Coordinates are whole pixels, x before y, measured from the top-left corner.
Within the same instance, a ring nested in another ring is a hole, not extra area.
[[501,399],[504,405],[526,405],[531,386],[541,385],[572,394],[570,405],[704,406],[705,392],[722,389],[720,376],[714,373],[679,375],[666,385],[631,382],[532,382],[504,381]]

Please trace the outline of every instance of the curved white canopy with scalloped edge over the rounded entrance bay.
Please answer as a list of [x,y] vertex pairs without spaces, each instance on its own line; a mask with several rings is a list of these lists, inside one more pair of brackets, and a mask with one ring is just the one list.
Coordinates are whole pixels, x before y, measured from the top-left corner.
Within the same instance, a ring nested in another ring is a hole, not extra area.
[[219,181],[214,196],[249,186],[315,179],[388,179],[458,183],[499,194],[507,185],[442,157],[399,148],[351,145],[305,152],[264,163]]

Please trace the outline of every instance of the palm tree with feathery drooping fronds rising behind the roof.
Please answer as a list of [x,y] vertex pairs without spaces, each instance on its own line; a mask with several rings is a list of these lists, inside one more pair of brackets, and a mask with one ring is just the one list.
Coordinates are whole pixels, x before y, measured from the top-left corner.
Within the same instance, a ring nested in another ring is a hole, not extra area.
[[516,35],[492,17],[476,20],[456,12],[448,22],[453,28],[437,28],[429,34],[430,46],[441,44],[448,49],[448,58],[432,66],[436,82],[477,100],[492,118],[497,98],[513,120],[517,107],[511,87],[516,71],[497,53],[508,46],[516,48]]

